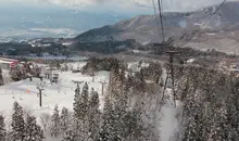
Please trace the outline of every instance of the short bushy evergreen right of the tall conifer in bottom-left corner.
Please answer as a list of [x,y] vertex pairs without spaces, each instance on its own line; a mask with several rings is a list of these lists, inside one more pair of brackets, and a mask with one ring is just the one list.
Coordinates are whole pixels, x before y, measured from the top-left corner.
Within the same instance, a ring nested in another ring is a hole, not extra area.
[[24,141],[42,141],[43,130],[37,125],[36,117],[27,116],[25,124],[25,140]]

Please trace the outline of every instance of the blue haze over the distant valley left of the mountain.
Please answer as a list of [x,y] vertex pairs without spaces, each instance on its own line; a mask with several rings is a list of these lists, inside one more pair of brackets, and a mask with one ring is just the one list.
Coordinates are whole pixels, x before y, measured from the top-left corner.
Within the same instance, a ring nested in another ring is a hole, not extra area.
[[75,37],[88,29],[114,24],[130,14],[77,11],[56,5],[0,5],[0,41],[43,37]]

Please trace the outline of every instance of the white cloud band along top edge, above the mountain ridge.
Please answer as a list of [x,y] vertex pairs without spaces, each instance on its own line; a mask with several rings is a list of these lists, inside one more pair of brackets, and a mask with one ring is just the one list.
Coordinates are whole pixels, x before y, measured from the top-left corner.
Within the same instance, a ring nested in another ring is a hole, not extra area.
[[[152,9],[152,0],[37,0],[38,2],[48,2],[63,4],[67,7],[89,7],[89,5],[116,5],[122,9],[141,8]],[[158,0],[154,0],[158,2]],[[162,0],[166,11],[187,11],[197,10],[203,7],[221,3],[223,0]]]

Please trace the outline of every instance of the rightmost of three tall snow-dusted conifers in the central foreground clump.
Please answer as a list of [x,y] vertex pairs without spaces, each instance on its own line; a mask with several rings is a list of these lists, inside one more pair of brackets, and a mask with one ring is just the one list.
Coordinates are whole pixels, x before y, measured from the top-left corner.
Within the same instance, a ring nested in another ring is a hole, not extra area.
[[100,130],[100,101],[99,101],[99,94],[96,91],[91,91],[89,100],[89,132],[90,138],[96,141],[99,139],[99,130]]

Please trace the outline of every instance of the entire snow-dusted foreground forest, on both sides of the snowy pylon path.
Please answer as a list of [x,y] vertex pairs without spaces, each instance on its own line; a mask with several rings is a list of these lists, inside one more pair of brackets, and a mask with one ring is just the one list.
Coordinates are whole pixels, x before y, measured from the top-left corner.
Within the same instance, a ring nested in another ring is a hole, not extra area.
[[181,108],[175,117],[178,129],[172,141],[238,139],[239,79],[234,74],[175,64],[175,86],[164,92],[168,64],[151,63],[133,73],[114,63],[103,110],[99,108],[98,92],[87,82],[83,89],[76,87],[73,110],[55,105],[52,114],[36,117],[15,102],[11,123],[0,115],[0,140],[43,141],[51,137],[59,141],[159,141],[165,104]]

